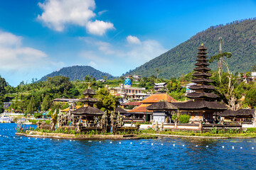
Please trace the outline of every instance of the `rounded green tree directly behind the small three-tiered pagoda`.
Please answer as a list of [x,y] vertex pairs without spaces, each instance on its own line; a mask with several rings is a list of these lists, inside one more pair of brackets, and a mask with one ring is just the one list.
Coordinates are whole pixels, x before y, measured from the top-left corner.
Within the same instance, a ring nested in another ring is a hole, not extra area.
[[99,100],[95,106],[102,111],[107,111],[107,114],[110,114],[111,111],[114,111],[114,108],[119,105],[118,98],[110,94],[107,88],[102,88],[97,91],[95,98]]

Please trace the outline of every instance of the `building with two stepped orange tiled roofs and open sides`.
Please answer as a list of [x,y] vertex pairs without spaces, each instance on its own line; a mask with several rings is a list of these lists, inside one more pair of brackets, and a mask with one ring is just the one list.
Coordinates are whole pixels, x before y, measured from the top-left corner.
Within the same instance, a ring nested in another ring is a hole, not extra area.
[[153,120],[153,111],[148,110],[146,107],[151,106],[151,104],[157,103],[159,101],[176,102],[176,100],[168,94],[156,93],[152,94],[143,101],[140,101],[140,103],[142,103],[141,106],[138,106],[137,108],[134,108],[128,112],[132,114],[133,121],[150,122]]

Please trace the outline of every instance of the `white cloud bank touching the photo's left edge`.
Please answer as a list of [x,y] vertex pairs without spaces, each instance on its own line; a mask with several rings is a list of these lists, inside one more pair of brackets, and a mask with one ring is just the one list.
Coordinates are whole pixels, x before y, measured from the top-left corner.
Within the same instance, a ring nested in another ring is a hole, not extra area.
[[45,52],[32,47],[22,47],[21,37],[0,32],[0,69],[4,72],[24,71],[55,65]]

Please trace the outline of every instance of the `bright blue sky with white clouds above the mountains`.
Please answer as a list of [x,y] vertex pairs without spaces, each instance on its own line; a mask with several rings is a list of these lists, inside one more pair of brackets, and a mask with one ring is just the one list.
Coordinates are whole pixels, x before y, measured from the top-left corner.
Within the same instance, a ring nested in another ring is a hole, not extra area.
[[73,65],[121,76],[210,26],[255,17],[247,0],[0,0],[0,75],[11,86]]

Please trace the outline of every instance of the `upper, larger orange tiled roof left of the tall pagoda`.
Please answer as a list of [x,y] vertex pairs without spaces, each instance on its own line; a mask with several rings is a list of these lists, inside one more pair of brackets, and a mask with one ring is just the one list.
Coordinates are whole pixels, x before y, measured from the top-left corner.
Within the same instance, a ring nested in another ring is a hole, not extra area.
[[159,101],[175,102],[176,100],[168,94],[152,94],[148,98],[144,99],[144,101],[141,101],[141,103],[153,104]]

